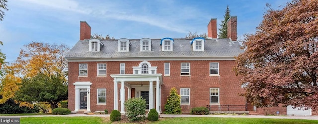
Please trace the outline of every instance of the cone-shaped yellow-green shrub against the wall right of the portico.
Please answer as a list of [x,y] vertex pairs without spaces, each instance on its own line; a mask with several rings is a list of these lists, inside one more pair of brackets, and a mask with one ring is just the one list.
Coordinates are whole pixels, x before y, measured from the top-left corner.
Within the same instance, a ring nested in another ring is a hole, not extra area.
[[167,103],[164,105],[164,114],[181,114],[181,96],[174,87],[170,90]]

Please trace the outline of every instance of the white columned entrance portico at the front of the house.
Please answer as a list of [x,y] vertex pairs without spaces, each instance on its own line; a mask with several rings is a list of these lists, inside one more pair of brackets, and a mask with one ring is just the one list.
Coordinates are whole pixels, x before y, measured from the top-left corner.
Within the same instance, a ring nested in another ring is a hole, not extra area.
[[[149,110],[156,108],[156,111],[160,114],[162,74],[112,74],[110,76],[114,78],[114,110],[118,110],[118,84],[120,84],[120,113],[122,115],[125,114],[126,94],[127,98],[130,99],[132,88],[136,89],[135,97],[142,96],[141,93],[145,93],[148,89]],[[128,93],[125,93],[125,87],[127,87]],[[156,89],[155,91],[154,88]]]

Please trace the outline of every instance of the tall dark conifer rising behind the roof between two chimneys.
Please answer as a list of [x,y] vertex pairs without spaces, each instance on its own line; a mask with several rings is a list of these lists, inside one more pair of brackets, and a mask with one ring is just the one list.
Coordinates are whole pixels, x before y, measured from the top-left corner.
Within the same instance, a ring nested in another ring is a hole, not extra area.
[[221,24],[220,24],[220,28],[219,28],[219,38],[228,38],[228,23],[227,21],[229,20],[230,18],[230,10],[229,10],[229,5],[227,6],[227,9],[225,10],[225,14],[224,14],[224,20],[221,21]]

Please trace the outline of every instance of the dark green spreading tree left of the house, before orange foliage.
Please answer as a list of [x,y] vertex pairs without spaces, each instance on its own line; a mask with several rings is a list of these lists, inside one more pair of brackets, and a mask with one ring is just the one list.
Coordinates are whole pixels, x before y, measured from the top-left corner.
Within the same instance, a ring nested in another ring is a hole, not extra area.
[[35,77],[22,79],[15,99],[25,102],[48,102],[51,109],[58,108],[62,100],[67,100],[68,86],[58,75],[39,73]]

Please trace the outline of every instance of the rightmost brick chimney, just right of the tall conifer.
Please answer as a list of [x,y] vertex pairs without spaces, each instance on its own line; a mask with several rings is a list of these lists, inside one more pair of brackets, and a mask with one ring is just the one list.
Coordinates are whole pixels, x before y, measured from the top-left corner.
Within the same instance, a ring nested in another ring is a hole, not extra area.
[[237,16],[231,16],[228,21],[228,38],[230,38],[231,41],[237,40]]

